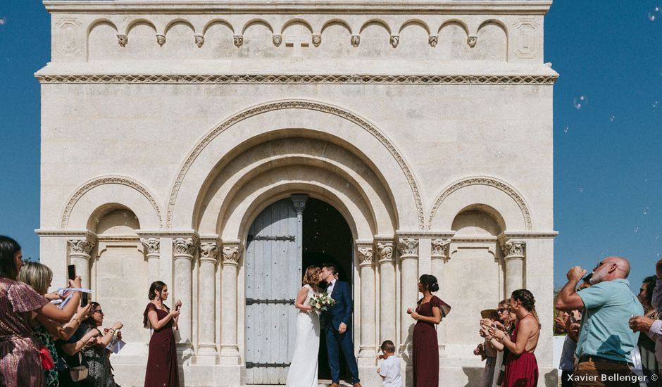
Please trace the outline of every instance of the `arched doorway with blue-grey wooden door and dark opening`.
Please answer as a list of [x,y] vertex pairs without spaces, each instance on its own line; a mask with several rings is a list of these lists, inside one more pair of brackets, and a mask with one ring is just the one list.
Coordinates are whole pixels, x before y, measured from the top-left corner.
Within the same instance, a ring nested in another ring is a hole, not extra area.
[[[352,283],[351,231],[331,205],[293,195],[265,208],[246,238],[246,384],[285,384],[303,269],[333,263]],[[323,339],[322,339],[323,342]],[[323,343],[322,343],[323,344]],[[320,379],[330,377],[320,346]]]

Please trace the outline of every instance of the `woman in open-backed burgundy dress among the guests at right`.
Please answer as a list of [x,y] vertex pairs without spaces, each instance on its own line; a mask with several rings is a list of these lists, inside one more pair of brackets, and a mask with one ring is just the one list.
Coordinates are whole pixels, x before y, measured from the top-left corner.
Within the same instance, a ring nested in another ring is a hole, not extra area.
[[504,387],[535,387],[538,384],[538,363],[533,352],[538,345],[540,323],[533,294],[526,289],[513,291],[510,309],[517,316],[511,336],[499,329],[489,329],[489,334],[501,341],[509,351]]

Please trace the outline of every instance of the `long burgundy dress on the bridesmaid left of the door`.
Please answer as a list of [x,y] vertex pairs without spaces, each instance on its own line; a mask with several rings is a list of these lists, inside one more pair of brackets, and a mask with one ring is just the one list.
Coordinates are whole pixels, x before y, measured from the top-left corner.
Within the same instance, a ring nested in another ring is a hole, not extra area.
[[[165,305],[163,305],[165,306]],[[144,312],[144,325],[149,326],[147,312],[155,310],[158,319],[168,315],[167,310],[158,310],[153,303],[147,304]],[[161,329],[154,329],[149,340],[149,357],[145,373],[145,387],[179,387],[180,375],[177,369],[177,349],[173,333],[173,319],[170,319]]]

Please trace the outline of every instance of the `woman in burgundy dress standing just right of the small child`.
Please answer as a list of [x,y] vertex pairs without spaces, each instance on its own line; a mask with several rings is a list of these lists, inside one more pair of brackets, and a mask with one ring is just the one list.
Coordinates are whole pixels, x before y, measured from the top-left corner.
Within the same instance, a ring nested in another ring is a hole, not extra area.
[[418,300],[418,307],[407,313],[416,320],[413,331],[413,386],[439,387],[439,346],[437,345],[436,324],[446,317],[449,306],[433,291],[439,290],[437,278],[430,274],[423,274],[418,281],[418,291],[423,298]]

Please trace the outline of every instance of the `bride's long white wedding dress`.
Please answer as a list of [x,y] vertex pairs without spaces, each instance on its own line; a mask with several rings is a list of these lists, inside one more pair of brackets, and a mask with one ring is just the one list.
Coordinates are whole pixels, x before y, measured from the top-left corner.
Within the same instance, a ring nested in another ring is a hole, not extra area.
[[[310,285],[304,305],[315,294]],[[299,310],[296,315],[296,338],[294,340],[294,356],[287,372],[289,387],[317,387],[318,353],[320,351],[320,317],[318,312]]]

